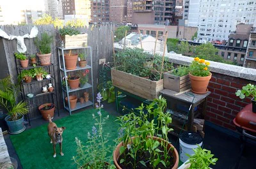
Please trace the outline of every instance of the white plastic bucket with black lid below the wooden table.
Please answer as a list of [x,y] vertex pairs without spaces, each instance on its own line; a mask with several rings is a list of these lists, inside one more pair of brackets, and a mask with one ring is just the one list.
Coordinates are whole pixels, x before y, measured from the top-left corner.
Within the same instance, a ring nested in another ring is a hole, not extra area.
[[180,135],[180,161],[182,161],[182,163],[188,160],[188,156],[186,156],[186,154],[195,154],[193,149],[197,148],[196,144],[202,146],[202,140],[202,136],[195,132],[184,132]]

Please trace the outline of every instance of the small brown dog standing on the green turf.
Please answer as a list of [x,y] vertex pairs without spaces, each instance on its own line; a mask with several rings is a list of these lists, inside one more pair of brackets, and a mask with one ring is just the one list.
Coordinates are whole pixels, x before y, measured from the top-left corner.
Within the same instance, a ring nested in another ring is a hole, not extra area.
[[56,158],[56,144],[60,143],[60,155],[64,156],[62,152],[62,133],[66,129],[65,127],[57,128],[57,125],[52,122],[51,116],[48,115],[48,135],[51,138],[51,143],[53,143],[53,157]]

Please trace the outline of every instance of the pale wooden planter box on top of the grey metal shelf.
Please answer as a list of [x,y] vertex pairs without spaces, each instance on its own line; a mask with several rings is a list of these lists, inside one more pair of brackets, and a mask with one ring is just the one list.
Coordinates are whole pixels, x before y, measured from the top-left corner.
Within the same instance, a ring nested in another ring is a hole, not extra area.
[[65,43],[65,48],[71,47],[86,47],[88,41],[88,34],[77,34],[77,35],[65,35],[63,37],[63,42]]

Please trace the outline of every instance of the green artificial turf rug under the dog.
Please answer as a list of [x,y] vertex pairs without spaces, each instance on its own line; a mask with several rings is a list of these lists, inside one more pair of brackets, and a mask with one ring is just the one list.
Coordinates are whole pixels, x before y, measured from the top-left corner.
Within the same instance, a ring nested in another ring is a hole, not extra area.
[[[92,126],[95,123],[92,114],[97,115],[97,110],[85,110],[77,114],[64,117],[54,121],[58,127],[65,126],[63,132],[63,153],[60,156],[60,146],[56,146],[56,158],[53,158],[53,148],[50,138],[47,134],[47,125],[44,124],[37,128],[28,129],[19,135],[11,135],[13,146],[17,152],[20,163],[24,169],[72,169],[77,168],[74,165],[72,156],[76,156],[75,137],[82,142],[87,141],[87,133],[92,132]],[[109,115],[108,112],[102,111],[103,117]],[[114,122],[115,116],[109,115],[109,120],[104,124],[104,133],[109,133],[109,142],[115,145],[113,141],[118,136],[118,124]]]

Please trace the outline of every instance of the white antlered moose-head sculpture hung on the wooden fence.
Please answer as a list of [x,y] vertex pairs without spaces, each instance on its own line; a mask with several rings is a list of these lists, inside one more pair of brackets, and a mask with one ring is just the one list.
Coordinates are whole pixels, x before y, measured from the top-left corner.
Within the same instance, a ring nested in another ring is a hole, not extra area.
[[24,43],[24,38],[35,38],[38,34],[38,29],[36,26],[32,27],[30,34],[24,34],[23,36],[14,36],[10,34],[6,34],[2,29],[0,29],[0,36],[8,39],[8,40],[17,40],[17,50],[20,53],[25,53],[27,51],[27,47]]

